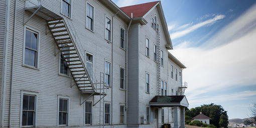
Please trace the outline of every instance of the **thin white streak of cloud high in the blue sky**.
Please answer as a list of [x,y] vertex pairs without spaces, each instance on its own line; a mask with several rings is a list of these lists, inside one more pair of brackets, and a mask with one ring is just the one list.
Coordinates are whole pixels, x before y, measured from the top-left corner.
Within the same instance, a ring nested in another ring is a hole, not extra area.
[[198,23],[196,25],[193,25],[193,26],[191,26],[191,27],[189,27],[189,28],[187,28],[185,30],[178,31],[178,32],[175,32],[175,33],[171,34],[171,39],[176,39],[176,38],[183,37],[183,36],[193,32],[193,31],[195,31],[195,30],[197,30],[197,29],[199,29],[199,28],[201,28],[203,26],[206,26],[206,25],[209,25],[209,24],[213,24],[216,21],[221,20],[223,18],[225,18],[224,15],[216,15],[213,19],[206,20],[204,22],[201,22],[201,23]]

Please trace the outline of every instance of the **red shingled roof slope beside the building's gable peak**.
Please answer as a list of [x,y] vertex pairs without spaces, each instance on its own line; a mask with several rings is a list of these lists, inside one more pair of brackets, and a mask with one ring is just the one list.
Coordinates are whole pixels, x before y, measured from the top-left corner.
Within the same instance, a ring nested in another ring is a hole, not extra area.
[[131,17],[131,13],[133,13],[133,17],[143,17],[149,10],[154,7],[157,2],[150,2],[150,3],[144,3],[144,4],[139,4],[139,5],[133,5],[133,6],[126,6],[126,7],[121,7],[120,9],[127,14],[129,17]]

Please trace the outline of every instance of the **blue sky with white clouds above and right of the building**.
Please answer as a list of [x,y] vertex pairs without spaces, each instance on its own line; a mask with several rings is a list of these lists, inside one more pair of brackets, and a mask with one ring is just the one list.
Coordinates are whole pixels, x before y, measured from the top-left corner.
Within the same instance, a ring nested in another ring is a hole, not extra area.
[[[114,0],[117,6],[152,1]],[[256,1],[161,1],[190,107],[220,104],[229,118],[256,102]]]

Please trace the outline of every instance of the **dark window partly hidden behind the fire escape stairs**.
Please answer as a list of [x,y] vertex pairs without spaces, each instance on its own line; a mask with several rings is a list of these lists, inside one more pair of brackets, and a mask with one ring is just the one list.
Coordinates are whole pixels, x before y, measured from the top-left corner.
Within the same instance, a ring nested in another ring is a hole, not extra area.
[[[61,45],[61,46],[65,46],[65,45]],[[68,49],[69,48],[62,48],[62,50],[68,50]],[[67,54],[69,52],[63,52],[63,53]],[[67,55],[67,57],[69,57],[69,55]],[[68,65],[67,65],[67,62],[62,54],[60,54],[60,73],[67,75],[67,76],[69,75]]]

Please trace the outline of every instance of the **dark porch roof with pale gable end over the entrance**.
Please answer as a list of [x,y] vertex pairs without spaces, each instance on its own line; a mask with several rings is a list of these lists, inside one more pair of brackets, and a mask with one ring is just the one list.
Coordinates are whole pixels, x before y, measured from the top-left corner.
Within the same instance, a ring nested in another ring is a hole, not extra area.
[[157,107],[188,107],[189,103],[185,95],[155,96],[150,101],[151,106]]

